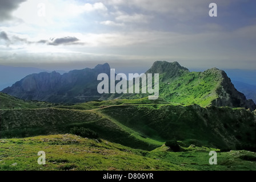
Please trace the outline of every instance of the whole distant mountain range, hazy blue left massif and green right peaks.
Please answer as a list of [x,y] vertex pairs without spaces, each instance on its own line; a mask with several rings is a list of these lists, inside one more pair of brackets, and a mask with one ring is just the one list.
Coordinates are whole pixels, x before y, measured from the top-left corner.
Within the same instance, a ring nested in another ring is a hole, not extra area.
[[[99,94],[99,73],[110,75],[109,64],[70,71],[42,72],[26,76],[13,86],[2,90],[24,100],[55,103],[77,103],[109,98],[143,98],[149,94]],[[230,106],[256,109],[252,100],[238,92],[226,73],[217,68],[204,72],[190,72],[179,63],[156,61],[146,73],[159,73],[159,96],[169,102],[201,106]]]

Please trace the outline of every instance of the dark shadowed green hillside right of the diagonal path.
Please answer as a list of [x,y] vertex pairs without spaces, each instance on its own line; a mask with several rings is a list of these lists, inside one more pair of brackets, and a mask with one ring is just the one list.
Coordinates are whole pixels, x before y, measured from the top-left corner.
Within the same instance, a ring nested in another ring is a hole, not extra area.
[[154,140],[197,140],[222,150],[255,150],[255,114],[243,108],[128,105],[100,111]]

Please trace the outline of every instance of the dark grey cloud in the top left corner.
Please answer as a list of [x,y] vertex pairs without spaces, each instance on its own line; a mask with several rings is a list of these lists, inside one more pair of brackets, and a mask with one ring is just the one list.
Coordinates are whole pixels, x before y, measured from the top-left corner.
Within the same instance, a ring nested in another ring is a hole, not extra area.
[[17,9],[19,4],[26,0],[1,0],[0,1],[0,21],[11,19],[11,13]]

